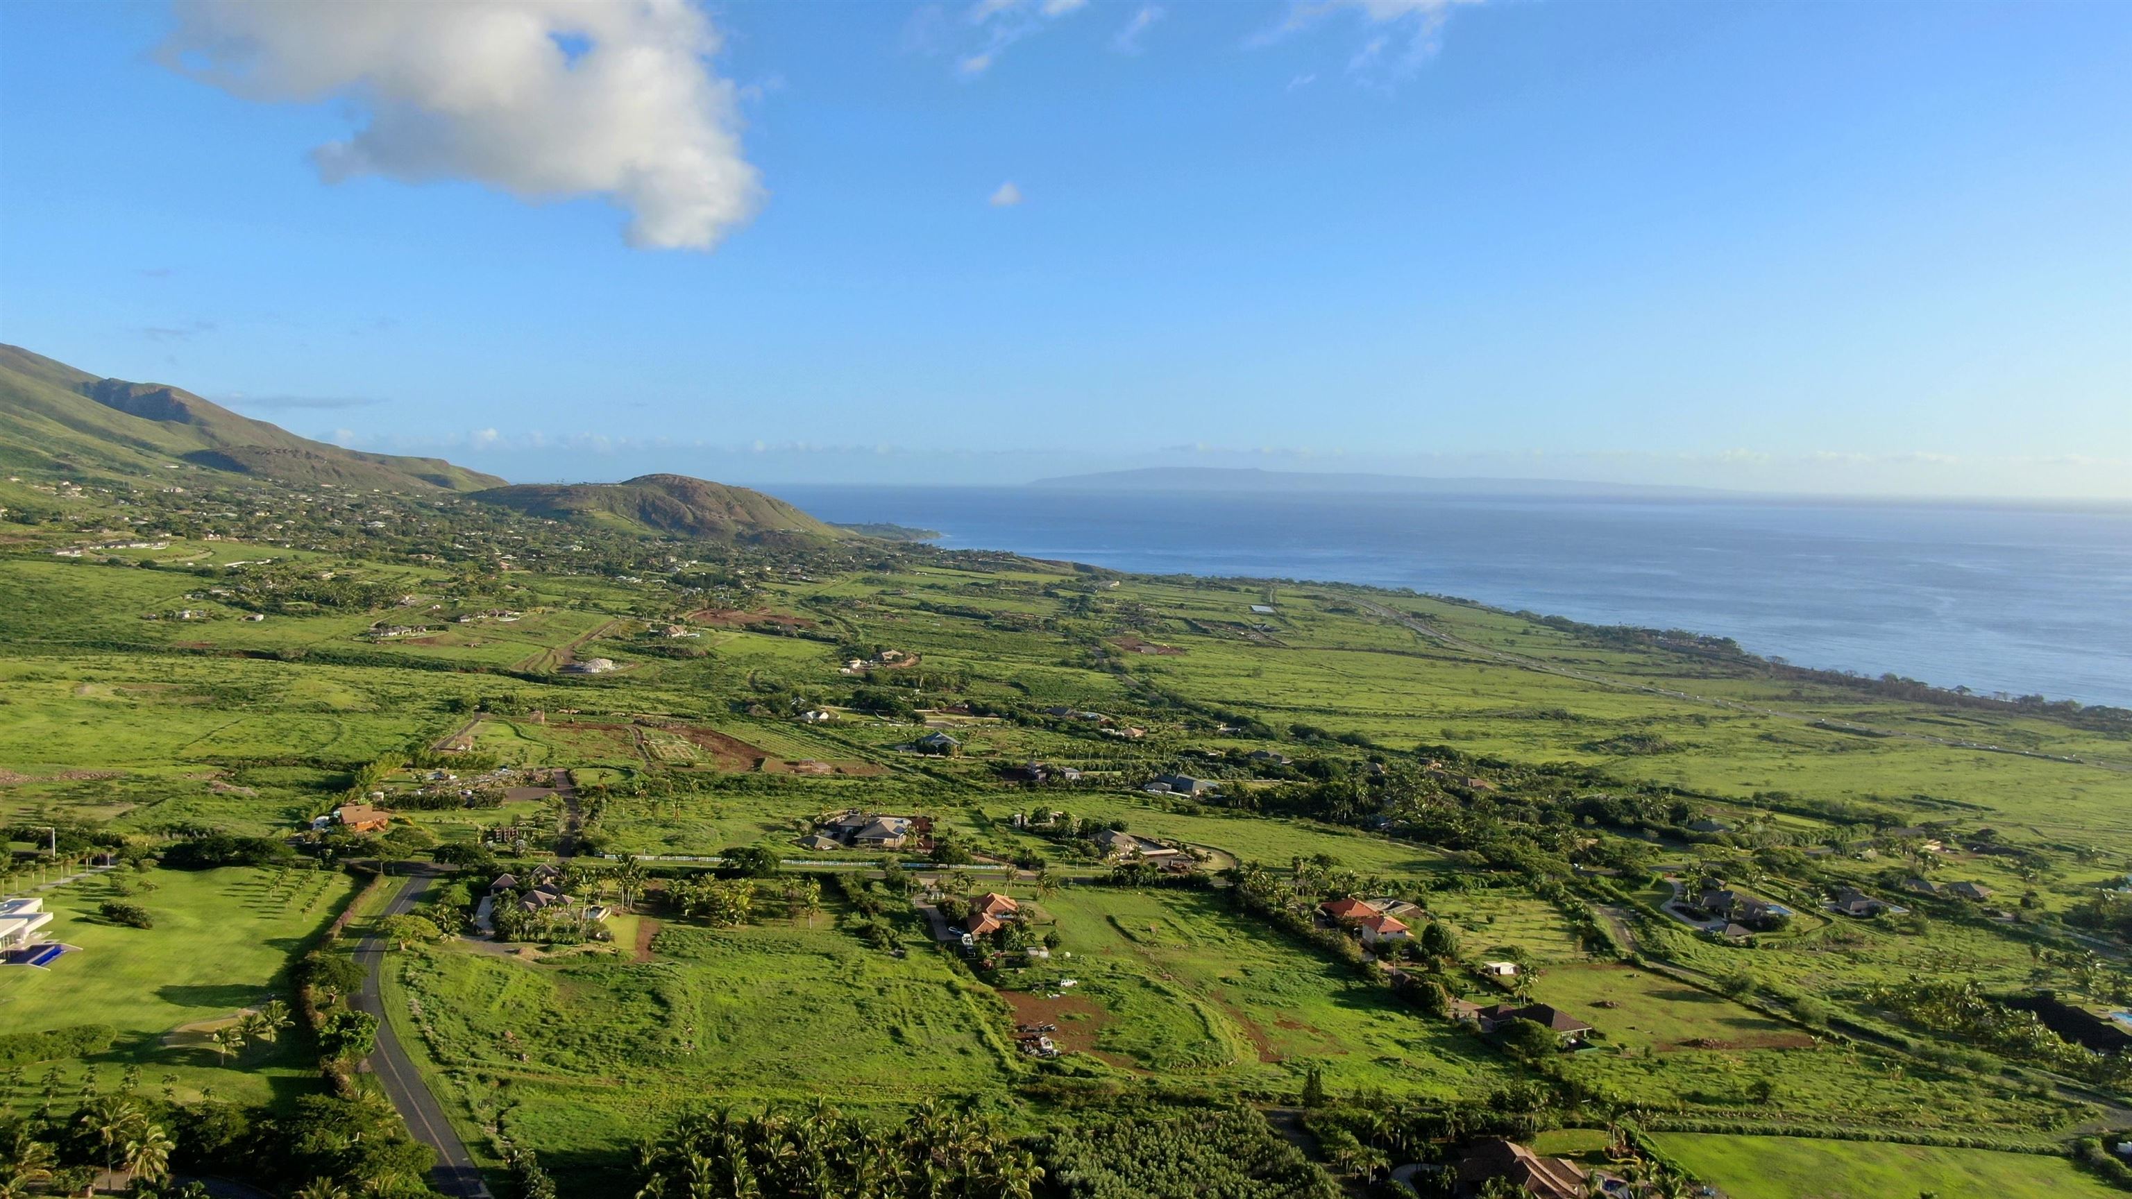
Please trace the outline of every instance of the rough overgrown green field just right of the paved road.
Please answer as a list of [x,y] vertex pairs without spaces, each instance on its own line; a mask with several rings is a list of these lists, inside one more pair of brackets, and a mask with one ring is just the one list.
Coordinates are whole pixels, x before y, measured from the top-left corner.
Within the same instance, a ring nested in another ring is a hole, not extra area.
[[631,962],[627,949],[397,958],[443,1086],[537,1146],[578,1195],[620,1186],[631,1146],[689,1105],[1000,1103],[1017,1071],[1006,1009],[987,988],[930,947],[908,958],[868,949],[831,915],[814,928],[663,922],[655,960]]

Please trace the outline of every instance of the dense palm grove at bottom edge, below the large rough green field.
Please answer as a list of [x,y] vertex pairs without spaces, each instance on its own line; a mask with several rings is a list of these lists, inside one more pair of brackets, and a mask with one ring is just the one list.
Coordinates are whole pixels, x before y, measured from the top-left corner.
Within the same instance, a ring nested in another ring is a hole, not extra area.
[[994,1116],[921,1101],[878,1126],[814,1099],[800,1112],[687,1116],[644,1154],[640,1199],[1034,1199],[1045,1171]]

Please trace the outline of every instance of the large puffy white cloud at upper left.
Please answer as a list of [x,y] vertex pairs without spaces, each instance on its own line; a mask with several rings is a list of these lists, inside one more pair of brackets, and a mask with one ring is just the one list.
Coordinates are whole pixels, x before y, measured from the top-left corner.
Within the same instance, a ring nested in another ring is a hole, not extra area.
[[245,100],[345,98],[328,183],[608,196],[631,245],[710,250],[761,203],[718,34],[687,0],[179,0],[160,55]]

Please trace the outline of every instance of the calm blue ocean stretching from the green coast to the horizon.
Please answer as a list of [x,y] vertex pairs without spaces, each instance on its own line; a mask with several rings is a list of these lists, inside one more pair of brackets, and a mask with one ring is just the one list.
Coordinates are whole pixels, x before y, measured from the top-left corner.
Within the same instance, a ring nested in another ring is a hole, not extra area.
[[2132,510],[770,486],[823,521],[1153,574],[1460,595],[1799,666],[2132,706]]

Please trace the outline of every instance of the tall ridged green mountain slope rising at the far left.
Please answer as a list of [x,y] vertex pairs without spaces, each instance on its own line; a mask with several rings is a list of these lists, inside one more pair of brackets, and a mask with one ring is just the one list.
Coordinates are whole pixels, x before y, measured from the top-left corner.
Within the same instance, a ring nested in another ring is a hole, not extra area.
[[503,480],[443,459],[343,450],[168,384],[104,380],[0,346],[0,465],[143,476],[185,465],[277,482],[473,491]]

